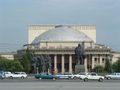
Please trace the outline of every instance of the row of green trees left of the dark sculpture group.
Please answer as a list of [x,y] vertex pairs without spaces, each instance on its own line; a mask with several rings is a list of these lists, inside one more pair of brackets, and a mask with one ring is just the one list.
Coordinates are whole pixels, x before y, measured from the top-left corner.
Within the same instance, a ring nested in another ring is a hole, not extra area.
[[11,72],[24,71],[26,73],[30,73],[31,58],[29,50],[27,49],[25,51],[21,59],[8,60],[4,57],[0,57],[0,70]]

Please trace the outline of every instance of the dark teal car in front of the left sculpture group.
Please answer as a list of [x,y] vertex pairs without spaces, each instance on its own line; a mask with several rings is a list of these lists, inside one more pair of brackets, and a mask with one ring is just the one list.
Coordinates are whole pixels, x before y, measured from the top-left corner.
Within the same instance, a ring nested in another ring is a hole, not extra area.
[[35,78],[36,79],[53,79],[53,80],[56,80],[57,79],[57,76],[55,75],[52,75],[50,73],[40,73],[40,74],[36,74],[35,75]]

